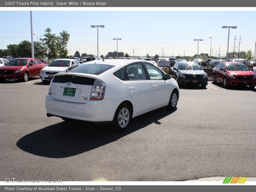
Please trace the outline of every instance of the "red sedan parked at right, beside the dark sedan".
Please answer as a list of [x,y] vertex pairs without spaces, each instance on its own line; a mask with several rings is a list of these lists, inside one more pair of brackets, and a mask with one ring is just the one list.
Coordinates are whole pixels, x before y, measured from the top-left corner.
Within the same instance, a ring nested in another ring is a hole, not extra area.
[[212,81],[221,82],[224,87],[229,85],[256,85],[256,74],[243,63],[221,62],[213,68]]

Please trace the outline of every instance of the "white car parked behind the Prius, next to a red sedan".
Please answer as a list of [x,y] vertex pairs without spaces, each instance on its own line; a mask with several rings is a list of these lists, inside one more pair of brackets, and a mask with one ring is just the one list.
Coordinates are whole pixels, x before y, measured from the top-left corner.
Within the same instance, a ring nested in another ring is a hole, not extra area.
[[50,82],[54,74],[76,65],[79,65],[79,62],[75,59],[55,59],[41,70],[40,79],[43,83]]

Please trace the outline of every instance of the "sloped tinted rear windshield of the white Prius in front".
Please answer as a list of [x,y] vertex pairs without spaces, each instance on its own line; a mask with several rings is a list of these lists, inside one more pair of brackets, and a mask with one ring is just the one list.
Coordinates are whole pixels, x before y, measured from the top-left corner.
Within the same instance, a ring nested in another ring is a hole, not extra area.
[[76,68],[71,69],[68,72],[100,75],[101,73],[104,73],[105,71],[107,71],[108,69],[111,69],[113,67],[114,67],[114,65],[82,64],[82,65],[77,66]]

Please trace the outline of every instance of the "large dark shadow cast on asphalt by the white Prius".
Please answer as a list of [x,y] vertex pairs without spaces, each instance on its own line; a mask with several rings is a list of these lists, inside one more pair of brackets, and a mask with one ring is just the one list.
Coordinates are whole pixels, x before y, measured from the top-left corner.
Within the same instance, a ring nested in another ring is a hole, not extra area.
[[17,141],[16,145],[28,153],[49,158],[75,156],[136,132],[149,124],[160,125],[160,119],[177,110],[159,108],[135,117],[124,132],[116,132],[111,125],[94,126],[90,123],[73,121],[60,122],[29,133]]

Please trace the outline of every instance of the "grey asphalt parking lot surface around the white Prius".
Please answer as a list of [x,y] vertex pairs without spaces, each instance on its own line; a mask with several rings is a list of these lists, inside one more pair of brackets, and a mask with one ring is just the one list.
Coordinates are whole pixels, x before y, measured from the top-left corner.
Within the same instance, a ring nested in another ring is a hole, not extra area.
[[0,83],[0,180],[179,181],[256,177],[256,89],[183,87],[177,109],[127,131],[47,117],[39,78]]

